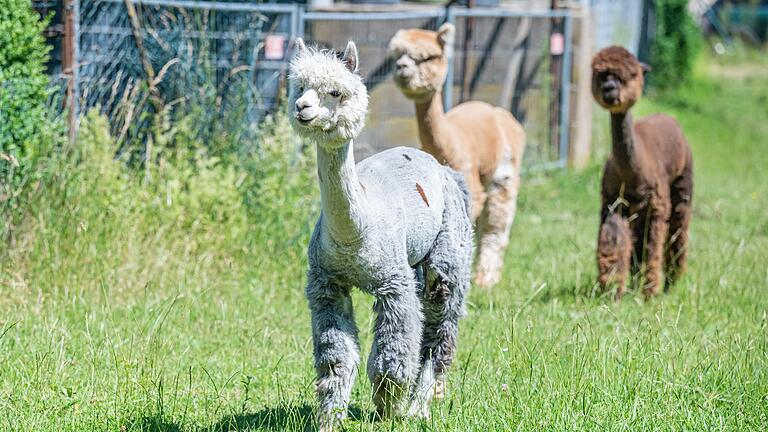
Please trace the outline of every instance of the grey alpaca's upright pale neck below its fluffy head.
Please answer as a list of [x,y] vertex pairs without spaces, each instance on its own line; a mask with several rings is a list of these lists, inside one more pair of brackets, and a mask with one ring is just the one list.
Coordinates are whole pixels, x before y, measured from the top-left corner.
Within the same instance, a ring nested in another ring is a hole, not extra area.
[[322,224],[339,243],[359,240],[362,231],[362,186],[357,178],[352,141],[326,150],[317,146]]

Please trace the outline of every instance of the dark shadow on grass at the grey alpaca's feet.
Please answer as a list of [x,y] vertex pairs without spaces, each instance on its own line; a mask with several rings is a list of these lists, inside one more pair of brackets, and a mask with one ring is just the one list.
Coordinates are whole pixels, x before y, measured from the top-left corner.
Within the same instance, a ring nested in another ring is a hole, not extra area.
[[[268,407],[261,411],[227,415],[213,424],[205,432],[236,431],[311,431],[314,430],[314,409],[309,405]],[[350,407],[349,416],[358,421],[372,420],[373,413],[365,413],[359,408]]]

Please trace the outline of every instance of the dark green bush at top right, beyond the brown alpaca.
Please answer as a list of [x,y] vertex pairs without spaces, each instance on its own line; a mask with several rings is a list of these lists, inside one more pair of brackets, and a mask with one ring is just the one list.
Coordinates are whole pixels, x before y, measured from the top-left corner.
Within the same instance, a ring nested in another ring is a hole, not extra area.
[[666,91],[690,81],[701,33],[688,13],[688,0],[655,0],[656,33],[648,83]]

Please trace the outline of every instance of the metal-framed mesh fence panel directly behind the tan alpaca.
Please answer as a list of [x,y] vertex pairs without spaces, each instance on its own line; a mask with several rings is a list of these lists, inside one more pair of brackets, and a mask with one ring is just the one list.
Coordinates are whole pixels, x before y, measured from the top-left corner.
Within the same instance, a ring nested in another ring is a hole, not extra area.
[[[393,61],[387,45],[398,29],[434,30],[450,20],[456,25],[456,43],[446,108],[482,100],[508,109],[526,129],[528,166],[564,164],[567,147],[561,146],[567,145],[567,129],[560,132],[560,119],[568,117],[567,109],[562,113],[568,101],[561,95],[570,91],[570,79],[563,79],[564,69],[551,66],[572,48],[570,36],[565,40],[563,29],[553,27],[555,20],[570,19],[568,12],[463,8],[444,12],[312,12],[302,16],[300,29],[321,46],[340,47],[348,39],[357,43],[371,113],[357,141],[361,156],[398,145],[419,145],[414,104],[392,82]],[[561,45],[555,43],[556,52],[551,50],[553,33],[562,38]]]

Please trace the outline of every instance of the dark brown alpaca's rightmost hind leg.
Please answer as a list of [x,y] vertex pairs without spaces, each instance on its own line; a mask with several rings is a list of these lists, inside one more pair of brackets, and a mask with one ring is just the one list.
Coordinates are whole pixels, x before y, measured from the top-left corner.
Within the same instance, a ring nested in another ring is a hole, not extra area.
[[693,172],[687,169],[672,184],[672,214],[669,218],[669,247],[665,256],[665,272],[669,289],[685,273],[688,261],[688,224],[691,222]]

